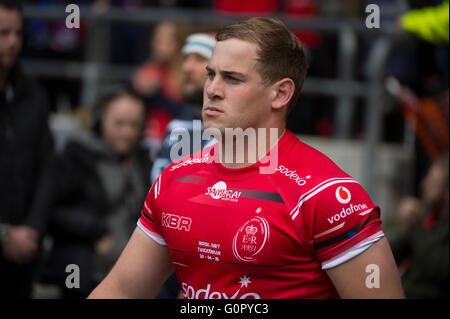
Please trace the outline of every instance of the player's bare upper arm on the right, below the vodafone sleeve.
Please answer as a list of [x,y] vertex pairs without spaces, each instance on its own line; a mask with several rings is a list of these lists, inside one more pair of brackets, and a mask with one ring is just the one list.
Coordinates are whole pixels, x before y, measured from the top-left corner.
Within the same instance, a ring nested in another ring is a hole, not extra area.
[[360,255],[326,270],[341,298],[404,298],[386,238]]

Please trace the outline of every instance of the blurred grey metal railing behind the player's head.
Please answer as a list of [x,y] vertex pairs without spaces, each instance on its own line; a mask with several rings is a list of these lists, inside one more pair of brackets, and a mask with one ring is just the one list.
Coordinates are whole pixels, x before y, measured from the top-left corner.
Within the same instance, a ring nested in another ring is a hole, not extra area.
[[[61,20],[67,17],[65,8],[25,6],[26,19]],[[46,59],[24,59],[25,70],[35,76],[55,78],[76,78],[82,82],[81,104],[91,105],[97,95],[102,80],[129,80],[134,68],[108,63],[105,56],[99,55],[102,48],[109,46],[105,32],[114,23],[136,23],[151,25],[161,20],[187,21],[196,25],[218,24],[237,21],[244,16],[218,15],[211,10],[146,8],[130,12],[110,8],[103,13],[94,13],[81,7],[81,20],[87,24],[88,32],[84,52],[84,62],[52,61]],[[336,78],[308,77],[302,94],[320,94],[335,97],[336,112],[335,137],[350,137],[352,114],[356,99],[363,99],[366,108],[364,126],[364,160],[362,184],[373,195],[377,172],[377,146],[380,143],[381,119],[384,88],[385,64],[389,53],[397,43],[405,39],[393,25],[381,25],[379,29],[368,29],[363,20],[331,18],[293,19],[287,16],[273,16],[295,29],[314,30],[321,33],[334,33],[338,39]],[[367,79],[356,79],[357,38],[368,38],[372,43],[367,60]],[[405,146],[408,150],[408,146]]]

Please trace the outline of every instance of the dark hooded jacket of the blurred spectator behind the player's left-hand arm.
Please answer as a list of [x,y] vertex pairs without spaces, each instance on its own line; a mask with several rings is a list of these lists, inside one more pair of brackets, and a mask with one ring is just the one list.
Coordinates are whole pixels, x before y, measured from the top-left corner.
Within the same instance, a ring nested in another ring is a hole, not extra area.
[[[101,140],[80,134],[67,144],[56,161],[57,199],[49,224],[53,249],[42,281],[64,288],[68,264],[76,264],[79,295],[86,296],[109,270],[136,227],[150,188],[148,151],[136,148],[119,158]],[[95,253],[95,243],[106,234],[114,236],[113,250]]]

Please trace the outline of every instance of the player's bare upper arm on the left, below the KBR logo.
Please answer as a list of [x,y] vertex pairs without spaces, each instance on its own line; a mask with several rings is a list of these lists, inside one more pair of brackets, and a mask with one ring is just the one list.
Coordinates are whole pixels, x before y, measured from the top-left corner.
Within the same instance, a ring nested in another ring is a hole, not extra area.
[[137,227],[111,272],[89,298],[153,298],[172,271],[168,248]]

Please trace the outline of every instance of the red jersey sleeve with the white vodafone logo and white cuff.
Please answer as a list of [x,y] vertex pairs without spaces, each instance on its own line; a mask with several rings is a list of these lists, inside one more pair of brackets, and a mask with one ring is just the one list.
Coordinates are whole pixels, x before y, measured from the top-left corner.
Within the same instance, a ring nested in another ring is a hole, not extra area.
[[331,179],[303,194],[292,217],[322,269],[354,258],[384,236],[380,208],[352,178]]

